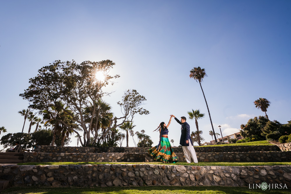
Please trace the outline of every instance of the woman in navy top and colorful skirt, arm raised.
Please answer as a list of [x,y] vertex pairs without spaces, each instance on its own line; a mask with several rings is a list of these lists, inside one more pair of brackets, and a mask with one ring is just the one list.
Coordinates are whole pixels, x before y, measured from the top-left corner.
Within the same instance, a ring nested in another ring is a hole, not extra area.
[[159,129],[159,132],[160,132],[159,144],[147,150],[148,153],[154,158],[155,161],[162,161],[163,163],[171,163],[171,162],[175,163],[179,161],[168,139],[168,127],[171,123],[171,119],[172,119],[172,116],[170,118],[168,125],[166,125],[164,122],[160,123],[160,125],[157,128]]

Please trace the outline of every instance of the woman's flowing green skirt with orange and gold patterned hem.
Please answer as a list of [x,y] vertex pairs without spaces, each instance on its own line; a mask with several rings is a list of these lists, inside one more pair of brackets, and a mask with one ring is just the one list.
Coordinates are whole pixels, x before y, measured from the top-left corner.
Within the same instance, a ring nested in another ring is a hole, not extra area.
[[149,155],[151,155],[155,161],[162,161],[163,163],[177,162],[178,157],[175,155],[168,137],[161,137],[160,143],[147,150]]

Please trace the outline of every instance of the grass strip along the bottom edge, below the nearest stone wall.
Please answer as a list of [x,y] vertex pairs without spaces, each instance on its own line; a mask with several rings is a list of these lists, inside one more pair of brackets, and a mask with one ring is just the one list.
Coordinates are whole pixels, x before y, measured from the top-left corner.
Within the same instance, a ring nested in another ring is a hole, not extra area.
[[248,187],[223,187],[223,186],[146,186],[146,187],[95,187],[95,188],[44,188],[44,187],[14,187],[2,191],[1,194],[257,194],[257,193],[276,193],[287,194],[291,193],[289,189],[270,189],[262,191],[262,189],[249,189]]

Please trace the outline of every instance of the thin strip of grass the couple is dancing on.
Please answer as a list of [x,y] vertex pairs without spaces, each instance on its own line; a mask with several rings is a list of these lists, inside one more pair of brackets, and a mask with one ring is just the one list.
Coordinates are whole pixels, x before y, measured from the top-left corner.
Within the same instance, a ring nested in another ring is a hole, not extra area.
[[31,163],[19,163],[17,165],[87,165],[87,164],[159,164],[159,165],[184,165],[184,166],[288,166],[291,162],[198,162],[187,163],[177,162],[162,163],[162,162],[31,162]]

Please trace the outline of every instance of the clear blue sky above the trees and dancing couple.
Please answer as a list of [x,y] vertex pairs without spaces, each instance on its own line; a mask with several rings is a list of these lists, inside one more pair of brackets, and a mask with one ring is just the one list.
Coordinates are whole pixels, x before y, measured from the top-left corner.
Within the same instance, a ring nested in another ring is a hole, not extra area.
[[[54,60],[73,59],[116,63],[111,72],[121,77],[104,99],[120,116],[116,102],[126,89],[145,96],[150,114],[136,116],[134,130],[145,130],[153,146],[160,122],[191,109],[205,113],[199,128],[212,140],[202,91],[189,78],[198,66],[208,75],[202,87],[216,132],[221,125],[232,134],[264,115],[253,105],[258,98],[271,101],[270,120],[291,119],[290,1],[0,1],[0,9],[0,126],[8,132],[22,130],[17,112],[28,103],[19,94],[29,78]],[[179,130],[172,121],[175,146]]]

